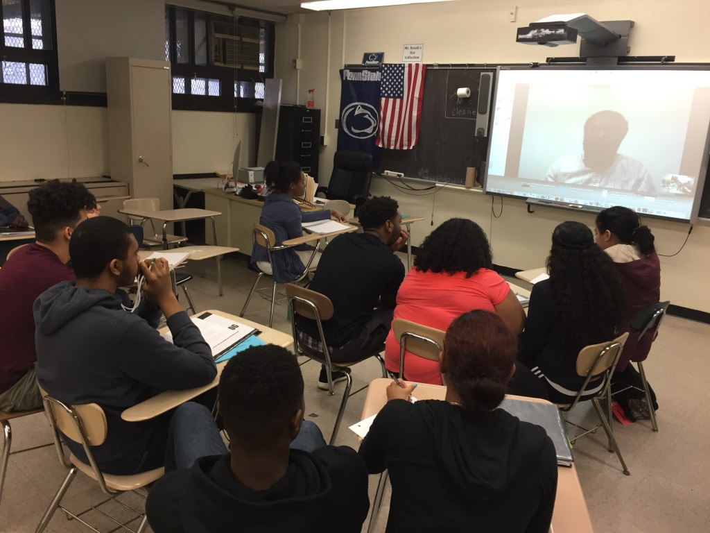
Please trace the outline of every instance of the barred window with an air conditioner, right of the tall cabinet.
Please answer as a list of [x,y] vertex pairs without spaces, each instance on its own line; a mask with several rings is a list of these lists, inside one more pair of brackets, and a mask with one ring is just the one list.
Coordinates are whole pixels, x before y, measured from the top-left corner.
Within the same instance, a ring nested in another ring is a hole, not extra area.
[[250,111],[273,77],[273,23],[165,6],[173,109]]

